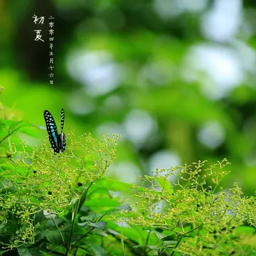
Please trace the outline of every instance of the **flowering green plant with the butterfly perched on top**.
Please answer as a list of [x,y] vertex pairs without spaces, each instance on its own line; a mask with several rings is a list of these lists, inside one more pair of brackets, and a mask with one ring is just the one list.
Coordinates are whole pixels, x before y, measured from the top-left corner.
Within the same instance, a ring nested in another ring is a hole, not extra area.
[[[12,157],[1,164],[2,249],[18,248],[20,253],[33,245],[69,255],[89,234],[105,235],[102,218],[120,206],[106,188],[112,181],[104,178],[119,137],[104,137],[101,142],[90,134],[73,137],[70,132],[70,146],[58,155],[46,146],[48,142],[31,152],[23,143],[11,147]],[[91,243],[83,250],[96,249]]]

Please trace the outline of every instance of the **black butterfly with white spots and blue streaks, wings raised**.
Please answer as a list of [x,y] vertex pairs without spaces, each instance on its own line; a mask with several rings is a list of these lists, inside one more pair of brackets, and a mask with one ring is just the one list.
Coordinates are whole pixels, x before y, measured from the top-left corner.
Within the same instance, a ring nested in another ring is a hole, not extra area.
[[64,110],[62,109],[60,114],[60,134],[58,134],[58,129],[53,119],[53,115],[50,114],[48,110],[43,112],[43,117],[46,120],[46,129],[49,135],[50,145],[52,146],[54,153],[60,153],[60,151],[63,152],[65,150],[65,134],[63,132],[65,118]]

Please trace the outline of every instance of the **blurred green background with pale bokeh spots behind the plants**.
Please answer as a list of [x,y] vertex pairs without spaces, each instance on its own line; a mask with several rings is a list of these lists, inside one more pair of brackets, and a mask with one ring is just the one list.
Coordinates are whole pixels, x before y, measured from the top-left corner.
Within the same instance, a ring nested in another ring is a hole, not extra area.
[[[5,104],[43,127],[43,110],[59,127],[63,107],[66,133],[122,134],[107,173],[122,181],[225,157],[232,173],[224,185],[238,182],[252,195],[255,7],[240,0],[0,0]],[[45,17],[44,43],[34,41],[34,14]]]

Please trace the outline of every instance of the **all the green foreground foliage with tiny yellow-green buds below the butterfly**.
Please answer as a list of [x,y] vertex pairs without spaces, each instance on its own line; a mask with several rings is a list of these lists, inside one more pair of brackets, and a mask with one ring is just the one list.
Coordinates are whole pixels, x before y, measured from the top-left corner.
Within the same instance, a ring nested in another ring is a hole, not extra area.
[[2,110],[1,255],[255,255],[255,196],[220,186],[226,159],[156,169],[132,186],[105,177],[118,135],[70,131],[53,154],[48,140],[21,142],[18,131],[38,128]]

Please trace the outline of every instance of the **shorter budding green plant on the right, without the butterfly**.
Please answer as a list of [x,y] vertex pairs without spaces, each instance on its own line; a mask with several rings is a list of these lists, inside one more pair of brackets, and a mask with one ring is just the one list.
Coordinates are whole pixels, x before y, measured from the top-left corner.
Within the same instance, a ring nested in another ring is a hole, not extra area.
[[144,255],[256,255],[255,197],[242,197],[237,183],[225,191],[219,187],[228,174],[226,159],[203,169],[205,164],[141,177],[133,210],[117,218],[148,231],[134,249],[144,248]]

